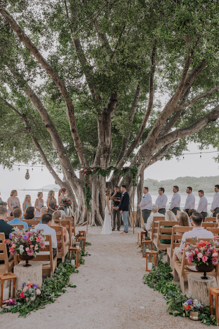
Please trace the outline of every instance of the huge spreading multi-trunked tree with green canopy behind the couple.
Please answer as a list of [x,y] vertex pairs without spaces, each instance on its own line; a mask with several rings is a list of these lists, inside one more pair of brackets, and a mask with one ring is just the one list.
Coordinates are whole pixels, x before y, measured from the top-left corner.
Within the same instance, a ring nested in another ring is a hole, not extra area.
[[[216,0],[2,1],[1,163],[45,164],[83,224],[76,170],[128,162],[142,180],[189,141],[218,146],[218,17]],[[90,225],[105,180],[90,180]]]

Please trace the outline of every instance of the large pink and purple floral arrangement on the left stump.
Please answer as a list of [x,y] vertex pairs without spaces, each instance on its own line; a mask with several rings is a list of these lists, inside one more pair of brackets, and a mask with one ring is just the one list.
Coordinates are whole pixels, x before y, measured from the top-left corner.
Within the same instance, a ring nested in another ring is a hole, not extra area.
[[3,242],[8,245],[9,252],[14,255],[19,253],[21,255],[28,255],[36,257],[36,253],[39,252],[39,249],[44,249],[45,246],[45,235],[42,235],[43,230],[30,231],[23,230],[22,232],[14,228],[14,232],[9,234],[9,239],[4,240]]

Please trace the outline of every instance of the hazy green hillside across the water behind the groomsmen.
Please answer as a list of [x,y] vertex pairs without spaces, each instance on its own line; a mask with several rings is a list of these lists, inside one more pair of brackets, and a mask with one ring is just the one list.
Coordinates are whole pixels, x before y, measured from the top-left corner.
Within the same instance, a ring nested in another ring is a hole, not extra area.
[[177,177],[176,179],[167,179],[157,181],[156,179],[147,178],[144,180],[144,185],[149,188],[150,193],[158,193],[160,187],[164,187],[166,194],[173,192],[173,186],[179,186],[180,193],[186,194],[187,186],[191,186],[193,192],[204,190],[205,193],[214,193],[214,185],[219,184],[219,176],[205,177]]

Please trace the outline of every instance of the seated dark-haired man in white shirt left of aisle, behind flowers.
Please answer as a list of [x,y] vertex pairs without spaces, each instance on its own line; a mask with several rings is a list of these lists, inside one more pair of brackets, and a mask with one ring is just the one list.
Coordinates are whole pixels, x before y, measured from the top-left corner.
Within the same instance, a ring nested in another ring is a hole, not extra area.
[[[57,239],[56,239],[56,232],[55,230],[50,227],[52,223],[52,215],[51,214],[44,214],[41,217],[41,224],[37,224],[33,230],[43,230],[42,234],[49,234],[52,236],[52,246],[53,246],[53,258],[55,258],[57,253]],[[45,244],[48,244],[48,241],[45,242]],[[40,253],[47,253],[47,251],[42,251]]]

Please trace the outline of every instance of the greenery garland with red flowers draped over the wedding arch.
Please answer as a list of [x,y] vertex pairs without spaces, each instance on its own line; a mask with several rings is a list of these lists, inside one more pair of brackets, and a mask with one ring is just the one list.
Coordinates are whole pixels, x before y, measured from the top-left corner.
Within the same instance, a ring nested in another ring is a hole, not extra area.
[[113,173],[114,177],[122,175],[123,178],[129,172],[131,176],[131,182],[133,188],[135,188],[138,185],[138,167],[136,165],[132,167],[122,167],[122,168],[118,168],[114,166],[110,166],[107,168],[101,168],[99,166],[84,168],[82,175],[84,175],[85,206],[88,212],[91,212],[90,201],[92,199],[91,189],[88,184],[88,177],[93,176],[94,174],[98,176],[100,175],[102,177],[109,177],[111,171],[114,171]]

